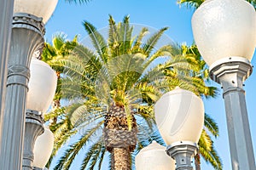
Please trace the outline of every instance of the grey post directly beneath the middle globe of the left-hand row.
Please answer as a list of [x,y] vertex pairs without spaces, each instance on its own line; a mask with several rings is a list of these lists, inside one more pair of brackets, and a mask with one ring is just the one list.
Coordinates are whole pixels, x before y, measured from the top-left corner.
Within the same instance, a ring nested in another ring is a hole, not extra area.
[[44,133],[44,119],[41,113],[38,111],[27,110],[22,170],[32,170],[35,141],[42,133]]

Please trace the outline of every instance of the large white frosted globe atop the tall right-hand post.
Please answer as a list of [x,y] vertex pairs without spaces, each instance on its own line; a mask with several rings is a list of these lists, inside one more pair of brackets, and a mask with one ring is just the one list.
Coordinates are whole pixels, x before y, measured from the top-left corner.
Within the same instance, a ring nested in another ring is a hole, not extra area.
[[192,30],[207,65],[218,59],[242,57],[249,61],[256,44],[255,10],[244,0],[207,0],[195,10]]

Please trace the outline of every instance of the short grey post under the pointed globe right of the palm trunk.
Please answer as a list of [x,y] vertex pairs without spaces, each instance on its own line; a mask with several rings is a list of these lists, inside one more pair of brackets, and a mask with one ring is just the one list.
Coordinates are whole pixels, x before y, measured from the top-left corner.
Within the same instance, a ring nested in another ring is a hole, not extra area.
[[197,144],[189,141],[176,142],[168,145],[166,153],[176,161],[176,170],[193,170],[191,157],[195,156]]

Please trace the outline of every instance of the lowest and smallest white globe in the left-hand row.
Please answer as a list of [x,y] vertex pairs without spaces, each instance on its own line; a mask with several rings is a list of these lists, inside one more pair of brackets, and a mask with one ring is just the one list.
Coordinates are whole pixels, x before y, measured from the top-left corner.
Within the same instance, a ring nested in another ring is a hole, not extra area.
[[53,150],[54,139],[54,134],[49,130],[49,127],[44,127],[44,133],[38,136],[35,142],[33,167],[45,167]]

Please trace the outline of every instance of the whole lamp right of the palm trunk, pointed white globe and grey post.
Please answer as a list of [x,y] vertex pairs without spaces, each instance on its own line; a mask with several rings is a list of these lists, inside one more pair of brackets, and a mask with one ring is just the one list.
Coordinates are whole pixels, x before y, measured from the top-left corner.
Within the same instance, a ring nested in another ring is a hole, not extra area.
[[178,170],[193,169],[197,143],[204,123],[204,105],[200,97],[175,88],[154,105],[157,127],[167,144],[166,152],[175,159]]

